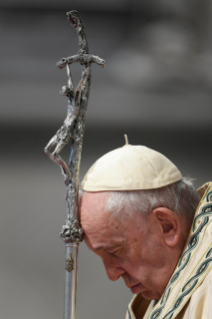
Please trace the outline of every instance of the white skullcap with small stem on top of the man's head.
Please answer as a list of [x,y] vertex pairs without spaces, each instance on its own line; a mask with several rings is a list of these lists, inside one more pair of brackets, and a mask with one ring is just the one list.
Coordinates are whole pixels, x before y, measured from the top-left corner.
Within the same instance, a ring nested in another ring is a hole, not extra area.
[[100,157],[85,175],[88,192],[154,189],[180,181],[182,175],[164,155],[146,146],[126,145]]

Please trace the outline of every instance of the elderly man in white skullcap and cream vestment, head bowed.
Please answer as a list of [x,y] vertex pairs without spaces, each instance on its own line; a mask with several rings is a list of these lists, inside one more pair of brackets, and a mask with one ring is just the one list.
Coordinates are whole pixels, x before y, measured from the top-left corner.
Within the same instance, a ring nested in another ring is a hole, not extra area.
[[126,142],[81,188],[86,245],[136,294],[126,318],[212,318],[210,183],[197,192],[165,156]]

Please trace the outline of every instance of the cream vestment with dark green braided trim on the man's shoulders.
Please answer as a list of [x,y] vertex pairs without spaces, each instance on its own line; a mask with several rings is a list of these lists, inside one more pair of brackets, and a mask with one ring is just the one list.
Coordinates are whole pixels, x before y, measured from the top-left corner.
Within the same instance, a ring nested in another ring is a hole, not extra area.
[[161,299],[155,304],[136,295],[126,319],[212,319],[212,183],[198,191],[205,193]]

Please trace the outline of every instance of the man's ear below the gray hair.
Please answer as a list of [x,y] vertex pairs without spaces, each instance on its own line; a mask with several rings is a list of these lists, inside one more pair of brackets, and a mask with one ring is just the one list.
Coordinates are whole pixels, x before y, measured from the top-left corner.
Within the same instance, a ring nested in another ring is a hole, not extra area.
[[179,217],[166,207],[158,207],[153,211],[153,215],[158,223],[164,242],[169,247],[178,244],[181,233],[181,225]]

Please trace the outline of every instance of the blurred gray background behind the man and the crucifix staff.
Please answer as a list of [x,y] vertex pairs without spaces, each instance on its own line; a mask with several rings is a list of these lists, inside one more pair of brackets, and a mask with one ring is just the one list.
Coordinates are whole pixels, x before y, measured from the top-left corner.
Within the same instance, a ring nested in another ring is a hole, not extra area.
[[[66,188],[43,148],[62,125],[67,83],[55,67],[78,51],[66,12],[78,10],[93,65],[81,177],[104,153],[143,144],[199,187],[211,179],[211,0],[1,0],[0,318],[63,315]],[[75,84],[81,76],[74,65]],[[68,147],[63,153],[68,157]],[[79,252],[77,317],[124,318],[131,293]]]

